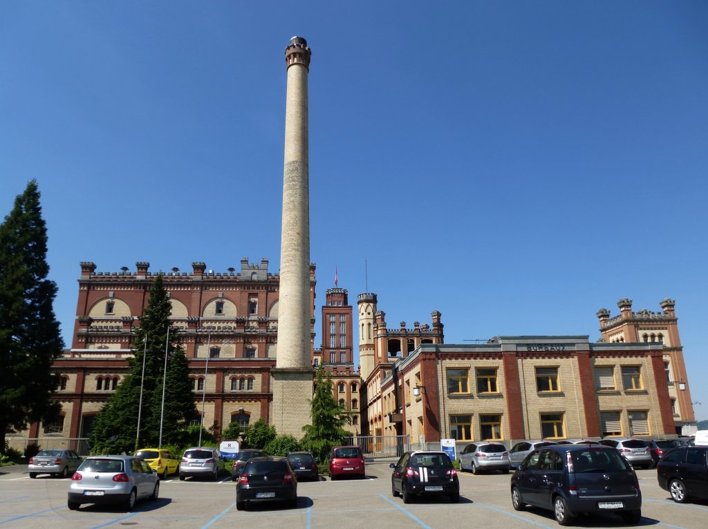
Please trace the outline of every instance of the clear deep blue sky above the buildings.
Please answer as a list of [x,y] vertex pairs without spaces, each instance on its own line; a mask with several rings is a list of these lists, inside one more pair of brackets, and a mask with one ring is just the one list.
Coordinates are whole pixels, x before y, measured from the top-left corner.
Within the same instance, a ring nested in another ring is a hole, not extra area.
[[595,341],[598,309],[673,298],[708,419],[707,27],[704,1],[4,1],[0,214],[38,180],[67,344],[81,261],[277,272],[302,35],[318,312],[335,267],[447,343]]

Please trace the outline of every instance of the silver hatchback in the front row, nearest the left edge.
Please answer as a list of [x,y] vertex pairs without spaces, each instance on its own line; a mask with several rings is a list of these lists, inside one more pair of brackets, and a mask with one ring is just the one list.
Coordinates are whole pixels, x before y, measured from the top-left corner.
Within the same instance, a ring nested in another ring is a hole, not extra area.
[[94,455],[72,476],[67,506],[76,511],[81,504],[123,504],[132,511],[135,501],[157,499],[159,478],[141,458],[132,455]]

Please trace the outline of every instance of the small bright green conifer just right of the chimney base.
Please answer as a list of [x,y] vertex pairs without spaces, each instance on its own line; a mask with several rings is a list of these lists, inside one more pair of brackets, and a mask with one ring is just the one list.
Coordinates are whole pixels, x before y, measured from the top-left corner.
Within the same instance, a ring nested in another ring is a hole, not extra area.
[[302,427],[305,435],[300,441],[304,450],[323,461],[333,446],[343,442],[350,435],[343,429],[348,424],[349,417],[343,405],[339,404],[332,393],[332,381],[324,378],[324,369],[319,366],[315,378],[315,390],[310,400],[310,417],[312,424]]

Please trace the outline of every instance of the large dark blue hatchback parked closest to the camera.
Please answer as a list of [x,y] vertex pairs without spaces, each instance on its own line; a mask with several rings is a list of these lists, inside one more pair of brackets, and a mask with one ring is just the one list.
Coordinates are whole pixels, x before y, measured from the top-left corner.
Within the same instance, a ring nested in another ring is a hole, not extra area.
[[580,513],[615,512],[641,519],[641,491],[632,465],[615,448],[552,445],[530,453],[511,477],[511,503],[553,511],[560,525]]

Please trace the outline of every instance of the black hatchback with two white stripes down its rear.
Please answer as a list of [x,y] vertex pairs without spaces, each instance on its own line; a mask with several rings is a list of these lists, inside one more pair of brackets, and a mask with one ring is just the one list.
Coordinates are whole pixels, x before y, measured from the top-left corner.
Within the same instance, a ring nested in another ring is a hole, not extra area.
[[459,501],[459,479],[445,452],[406,452],[398,463],[389,465],[391,493],[401,496],[409,504],[413,496],[448,496],[450,501]]

